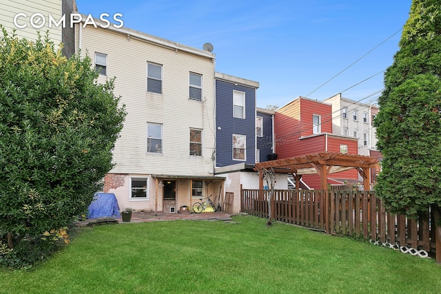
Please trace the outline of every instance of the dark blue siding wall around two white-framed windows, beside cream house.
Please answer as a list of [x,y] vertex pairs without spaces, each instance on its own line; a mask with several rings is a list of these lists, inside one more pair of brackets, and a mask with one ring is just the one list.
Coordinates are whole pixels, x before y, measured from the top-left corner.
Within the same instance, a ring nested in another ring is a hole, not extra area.
[[[233,117],[233,90],[245,92],[245,118]],[[220,128],[220,129],[219,129]],[[233,134],[247,136],[246,160],[233,160]],[[216,167],[256,161],[256,89],[216,80]]]

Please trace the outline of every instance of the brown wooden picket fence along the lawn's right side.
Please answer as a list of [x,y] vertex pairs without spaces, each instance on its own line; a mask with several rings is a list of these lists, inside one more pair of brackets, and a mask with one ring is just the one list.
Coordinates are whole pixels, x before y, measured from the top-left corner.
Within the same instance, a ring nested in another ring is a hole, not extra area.
[[[268,190],[243,189],[240,211],[268,218],[268,195]],[[271,214],[281,222],[435,255],[430,207],[419,220],[388,213],[374,191],[275,190]]]

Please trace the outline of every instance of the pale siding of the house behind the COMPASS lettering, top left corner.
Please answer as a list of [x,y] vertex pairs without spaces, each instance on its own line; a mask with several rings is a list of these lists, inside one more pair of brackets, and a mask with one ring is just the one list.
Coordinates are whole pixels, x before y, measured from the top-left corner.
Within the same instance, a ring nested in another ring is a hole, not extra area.
[[[49,30],[51,41],[58,45],[61,43],[61,26],[57,28],[52,25],[50,28],[49,15],[58,21],[62,14],[61,4],[61,0],[0,0],[0,23],[6,28],[8,34],[12,34],[12,30],[16,29],[17,36],[30,40],[37,39],[37,30],[41,32],[42,36],[45,35],[46,30]],[[26,28],[17,28],[14,25],[14,17],[18,13],[27,15],[27,17],[19,17],[17,21],[19,25],[26,25]],[[41,13],[45,17],[45,25],[40,29],[33,28],[30,23],[30,17],[35,13]]]

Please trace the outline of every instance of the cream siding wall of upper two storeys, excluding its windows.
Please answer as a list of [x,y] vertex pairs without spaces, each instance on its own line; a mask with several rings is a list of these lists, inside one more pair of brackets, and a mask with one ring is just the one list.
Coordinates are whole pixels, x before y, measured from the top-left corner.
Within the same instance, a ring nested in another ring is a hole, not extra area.
[[[81,50],[107,54],[107,76],[125,104],[114,173],[207,176],[213,169],[214,61],[88,25]],[[163,65],[163,94],[147,92],[147,61]],[[203,75],[203,101],[189,99],[189,72]],[[105,81],[100,76],[99,82]],[[163,124],[163,153],[147,154],[147,122]],[[203,129],[203,156],[189,156],[189,128]]]

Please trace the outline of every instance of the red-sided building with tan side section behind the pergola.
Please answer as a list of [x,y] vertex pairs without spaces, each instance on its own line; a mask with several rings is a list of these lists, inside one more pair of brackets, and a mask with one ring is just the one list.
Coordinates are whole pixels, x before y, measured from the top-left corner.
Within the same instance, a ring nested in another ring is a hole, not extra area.
[[[298,97],[276,110],[274,115],[277,159],[336,152],[358,154],[358,140],[332,134],[331,104]],[[302,176],[312,189],[320,189],[318,175]],[[358,171],[349,169],[328,178],[329,185],[358,182]],[[362,181],[361,181],[362,182]]]

